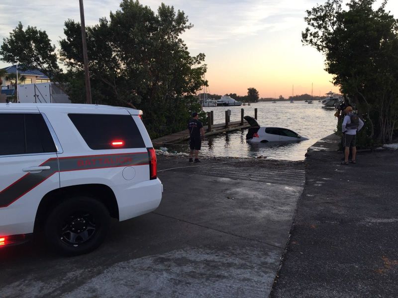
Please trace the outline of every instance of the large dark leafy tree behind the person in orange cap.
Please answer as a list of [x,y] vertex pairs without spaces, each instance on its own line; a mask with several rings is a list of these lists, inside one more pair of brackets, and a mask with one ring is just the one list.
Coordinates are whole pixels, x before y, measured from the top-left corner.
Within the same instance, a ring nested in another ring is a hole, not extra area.
[[375,0],[327,0],[307,10],[302,42],[325,55],[333,83],[366,115],[369,138],[391,142],[398,120],[398,20]]

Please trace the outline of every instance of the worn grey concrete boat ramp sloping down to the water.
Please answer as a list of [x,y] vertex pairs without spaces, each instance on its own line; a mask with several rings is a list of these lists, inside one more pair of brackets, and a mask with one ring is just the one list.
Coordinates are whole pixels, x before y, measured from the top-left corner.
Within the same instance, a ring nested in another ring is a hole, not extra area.
[[155,212],[113,223],[87,255],[60,257],[40,239],[0,251],[0,297],[267,297],[304,163],[158,159]]

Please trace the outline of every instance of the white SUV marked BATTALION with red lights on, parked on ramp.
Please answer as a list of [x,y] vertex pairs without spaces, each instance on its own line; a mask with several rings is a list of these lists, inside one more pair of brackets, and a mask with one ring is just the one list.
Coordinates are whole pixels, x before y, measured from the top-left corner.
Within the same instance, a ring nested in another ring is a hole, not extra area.
[[44,231],[67,255],[104,240],[110,217],[155,210],[163,186],[142,111],[0,104],[0,248]]

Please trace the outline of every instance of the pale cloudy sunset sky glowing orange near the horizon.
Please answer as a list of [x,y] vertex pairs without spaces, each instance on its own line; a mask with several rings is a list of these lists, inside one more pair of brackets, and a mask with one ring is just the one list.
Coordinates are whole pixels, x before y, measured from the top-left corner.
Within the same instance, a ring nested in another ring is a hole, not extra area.
[[[160,0],[141,0],[156,11]],[[247,94],[254,87],[260,97],[294,93],[321,95],[338,88],[324,69],[321,54],[301,44],[305,10],[323,0],[164,0],[183,10],[194,28],[182,36],[192,55],[204,53],[210,93]],[[119,8],[119,0],[84,0],[86,25]],[[381,0],[378,1],[381,3]],[[398,1],[387,10],[398,17]],[[11,12],[11,13],[10,13]],[[64,21],[80,21],[79,0],[1,0],[0,39],[19,21],[46,30],[53,44],[63,38]],[[90,59],[90,57],[89,57]],[[8,66],[0,62],[0,67]]]

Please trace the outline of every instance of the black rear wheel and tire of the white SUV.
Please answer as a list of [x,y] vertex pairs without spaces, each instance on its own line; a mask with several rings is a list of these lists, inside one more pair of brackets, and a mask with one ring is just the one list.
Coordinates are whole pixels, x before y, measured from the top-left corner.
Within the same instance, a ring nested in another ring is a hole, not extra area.
[[45,236],[61,254],[80,255],[100,246],[109,223],[109,212],[102,203],[89,197],[74,197],[51,211]]

